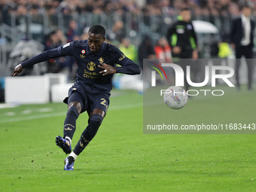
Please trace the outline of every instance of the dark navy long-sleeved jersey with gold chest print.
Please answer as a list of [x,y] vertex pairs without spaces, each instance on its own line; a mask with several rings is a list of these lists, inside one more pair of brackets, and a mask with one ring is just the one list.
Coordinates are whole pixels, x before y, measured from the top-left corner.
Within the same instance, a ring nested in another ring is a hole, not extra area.
[[104,42],[100,50],[91,52],[87,40],[73,41],[56,49],[47,50],[21,64],[26,67],[59,56],[74,56],[78,65],[75,81],[83,83],[85,87],[90,87],[90,90],[96,92],[109,93],[112,89],[111,78],[113,75],[100,74],[99,72],[103,69],[99,68],[99,62],[104,62],[110,66],[119,64],[121,67],[116,67],[117,73],[128,75],[140,73],[139,66],[124,56],[114,45]]

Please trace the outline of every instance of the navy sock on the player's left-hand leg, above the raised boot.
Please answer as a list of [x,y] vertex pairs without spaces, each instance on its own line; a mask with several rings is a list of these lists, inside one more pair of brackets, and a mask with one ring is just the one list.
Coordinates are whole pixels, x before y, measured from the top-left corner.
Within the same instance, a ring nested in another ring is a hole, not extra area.
[[[78,119],[79,113],[78,109],[75,106],[69,108],[66,119],[64,121],[64,138],[69,137],[69,139],[73,138],[75,133],[75,122]],[[71,141],[70,141],[71,142]]]

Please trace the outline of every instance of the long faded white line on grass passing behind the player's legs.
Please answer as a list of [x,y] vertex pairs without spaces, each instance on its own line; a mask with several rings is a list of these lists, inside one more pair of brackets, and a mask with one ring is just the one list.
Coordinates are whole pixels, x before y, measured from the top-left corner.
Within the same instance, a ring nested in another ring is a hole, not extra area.
[[[127,108],[138,108],[142,107],[142,103],[134,103],[132,105],[122,105],[122,106],[114,106],[109,108],[109,111],[119,110],[119,109],[127,109]],[[6,120],[0,120],[0,123],[11,123],[11,122],[17,122],[17,121],[23,121],[23,120],[34,120],[34,119],[41,119],[41,118],[47,118],[47,117],[59,117],[66,115],[66,111],[59,112],[59,113],[51,113],[51,114],[38,114],[38,115],[31,115],[31,116],[24,116],[24,117],[18,117],[18,118],[11,118]]]

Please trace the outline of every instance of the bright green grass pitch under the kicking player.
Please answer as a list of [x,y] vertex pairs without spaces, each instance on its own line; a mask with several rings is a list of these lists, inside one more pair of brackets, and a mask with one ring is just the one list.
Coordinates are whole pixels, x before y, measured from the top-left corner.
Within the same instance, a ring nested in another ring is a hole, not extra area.
[[[66,154],[55,145],[65,104],[0,109],[0,191],[256,191],[255,135],[143,134],[143,96],[114,93],[123,96],[111,97],[99,132],[69,172],[63,170]],[[241,101],[248,106],[242,116],[256,123],[255,92],[233,93],[221,102]],[[200,99],[191,99],[181,110],[193,113],[198,105]],[[235,122],[232,111],[225,118]],[[81,114],[73,146],[86,126]]]

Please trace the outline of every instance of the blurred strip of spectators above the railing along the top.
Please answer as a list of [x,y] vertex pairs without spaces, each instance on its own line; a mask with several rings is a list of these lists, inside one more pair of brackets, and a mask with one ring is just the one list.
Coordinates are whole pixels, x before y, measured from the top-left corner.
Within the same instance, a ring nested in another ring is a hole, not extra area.
[[[177,14],[181,8],[191,8],[194,14],[234,15],[237,4],[248,2],[256,14],[255,1],[239,0],[1,0],[2,11],[14,11],[17,15],[30,14]],[[4,18],[2,17],[2,20]]]

